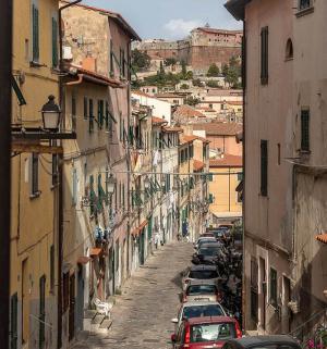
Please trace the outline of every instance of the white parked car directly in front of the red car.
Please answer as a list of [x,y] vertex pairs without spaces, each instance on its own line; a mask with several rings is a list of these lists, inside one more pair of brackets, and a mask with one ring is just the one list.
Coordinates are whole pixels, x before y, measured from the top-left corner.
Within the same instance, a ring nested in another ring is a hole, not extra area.
[[178,316],[171,319],[171,322],[175,324],[177,333],[184,319],[202,316],[228,316],[228,313],[217,301],[187,301],[186,303],[182,303]]

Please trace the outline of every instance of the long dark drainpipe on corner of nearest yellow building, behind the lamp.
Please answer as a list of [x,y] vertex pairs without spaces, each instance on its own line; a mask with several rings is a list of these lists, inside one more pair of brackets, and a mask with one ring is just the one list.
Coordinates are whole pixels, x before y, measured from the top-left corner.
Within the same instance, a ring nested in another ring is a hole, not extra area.
[[[63,7],[58,11],[59,16],[59,70],[63,71],[63,59],[62,59],[62,11],[81,2],[82,0],[75,0]],[[62,111],[62,124],[65,125],[65,108],[64,108],[64,85],[62,77],[59,78],[59,104]],[[61,141],[62,146],[62,141]],[[59,154],[59,169],[58,169],[58,319],[57,319],[57,348],[62,347],[62,244],[63,244],[63,154]]]

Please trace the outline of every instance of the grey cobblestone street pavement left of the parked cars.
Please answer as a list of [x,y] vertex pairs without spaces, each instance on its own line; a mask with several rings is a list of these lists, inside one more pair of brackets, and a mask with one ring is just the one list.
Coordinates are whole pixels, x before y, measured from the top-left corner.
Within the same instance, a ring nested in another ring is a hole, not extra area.
[[168,349],[171,319],[179,308],[180,273],[193,252],[191,244],[160,247],[125,283],[112,310],[108,335],[94,336],[85,348]]

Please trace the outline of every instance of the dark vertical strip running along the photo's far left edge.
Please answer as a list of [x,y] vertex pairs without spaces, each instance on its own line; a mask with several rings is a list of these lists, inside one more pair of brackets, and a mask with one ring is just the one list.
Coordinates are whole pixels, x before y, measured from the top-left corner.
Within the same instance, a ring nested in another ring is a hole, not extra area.
[[10,201],[11,201],[11,70],[12,70],[12,0],[1,2],[0,12],[0,342],[9,348],[10,297]]

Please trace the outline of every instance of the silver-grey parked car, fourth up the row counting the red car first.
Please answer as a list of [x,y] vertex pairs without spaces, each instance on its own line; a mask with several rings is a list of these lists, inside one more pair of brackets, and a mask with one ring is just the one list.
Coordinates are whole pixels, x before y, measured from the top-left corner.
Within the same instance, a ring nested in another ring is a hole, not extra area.
[[187,285],[194,279],[203,279],[203,281],[213,281],[216,285],[220,283],[220,275],[215,265],[193,265],[187,267],[182,277],[182,289],[183,291],[186,289]]

